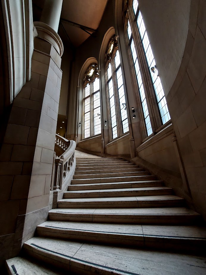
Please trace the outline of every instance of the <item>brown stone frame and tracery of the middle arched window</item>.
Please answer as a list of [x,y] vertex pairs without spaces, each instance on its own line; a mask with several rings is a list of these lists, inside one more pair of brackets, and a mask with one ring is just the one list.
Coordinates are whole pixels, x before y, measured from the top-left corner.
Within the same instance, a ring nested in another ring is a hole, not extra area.
[[[111,43],[114,43],[114,48],[111,52],[111,54],[108,54],[108,49]],[[127,119],[128,123],[128,112],[127,112],[127,105],[126,105],[126,93],[125,93],[125,85],[123,81],[123,73],[122,73],[122,64],[121,64],[121,59],[119,62],[119,65],[116,68],[115,65],[115,56],[117,51],[119,51],[117,40],[115,38],[115,35],[113,35],[108,43],[107,49],[106,49],[106,54],[105,54],[105,82],[106,82],[106,106],[107,106],[107,115],[108,115],[108,132],[109,132],[109,142],[118,139],[119,137],[122,137],[124,135],[127,135],[129,132],[129,126],[128,131],[124,132],[123,129],[123,124],[122,122]],[[119,52],[119,57],[120,57],[120,52]],[[107,70],[108,66],[111,64],[111,76],[108,78]],[[118,82],[117,82],[117,71],[121,68],[121,73],[122,73],[122,85],[118,88]],[[109,97],[109,88],[108,88],[108,83],[111,81],[113,82],[113,91],[114,91],[114,106],[115,106],[115,112],[116,112],[116,125],[117,125],[117,137],[113,138],[113,132],[112,129],[115,127],[112,127],[112,121],[111,121],[111,112],[110,112],[110,97]],[[124,96],[125,96],[125,107],[126,108],[126,114],[127,117],[122,121],[122,115],[121,115],[121,108],[120,108],[120,103],[119,103],[119,89],[123,87],[124,90]]]

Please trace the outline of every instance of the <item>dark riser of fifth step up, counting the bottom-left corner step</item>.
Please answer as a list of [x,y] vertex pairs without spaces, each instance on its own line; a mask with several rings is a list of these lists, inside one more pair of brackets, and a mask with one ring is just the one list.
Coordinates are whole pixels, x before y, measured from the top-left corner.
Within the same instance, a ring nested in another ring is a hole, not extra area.
[[165,201],[77,201],[77,202],[58,202],[58,208],[145,208],[145,207],[181,207],[183,201],[168,200]]

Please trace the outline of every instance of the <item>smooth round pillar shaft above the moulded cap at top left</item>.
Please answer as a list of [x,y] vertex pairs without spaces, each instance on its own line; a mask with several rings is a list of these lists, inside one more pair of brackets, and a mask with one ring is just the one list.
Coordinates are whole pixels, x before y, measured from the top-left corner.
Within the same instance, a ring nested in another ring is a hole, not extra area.
[[58,32],[63,0],[45,0],[40,21]]

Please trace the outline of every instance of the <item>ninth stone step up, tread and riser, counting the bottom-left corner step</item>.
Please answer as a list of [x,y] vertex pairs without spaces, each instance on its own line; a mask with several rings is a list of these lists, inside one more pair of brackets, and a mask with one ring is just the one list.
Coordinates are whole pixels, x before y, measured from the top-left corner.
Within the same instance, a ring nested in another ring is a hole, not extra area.
[[127,176],[147,176],[147,171],[135,171],[135,172],[121,172],[121,173],[108,173],[108,174],[83,174],[74,175],[73,179],[96,179],[96,178],[116,178],[116,177],[127,177]]

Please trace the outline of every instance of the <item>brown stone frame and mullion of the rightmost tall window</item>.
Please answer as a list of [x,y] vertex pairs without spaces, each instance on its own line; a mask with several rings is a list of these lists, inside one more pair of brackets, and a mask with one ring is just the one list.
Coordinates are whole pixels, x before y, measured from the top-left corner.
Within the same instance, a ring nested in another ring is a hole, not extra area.
[[[144,87],[144,92],[145,92],[145,97],[147,101],[147,107],[148,107],[148,112],[150,116],[150,122],[152,126],[152,134],[154,135],[161,126],[166,126],[168,123],[171,122],[171,119],[167,121],[166,123],[163,124],[160,110],[158,107],[158,102],[157,102],[157,97],[154,89],[154,85],[152,82],[152,76],[150,74],[150,68],[147,62],[146,54],[144,51],[144,46],[142,43],[142,39],[140,36],[139,32],[139,27],[137,24],[137,18],[139,14],[139,5],[137,7],[136,14],[133,10],[133,0],[125,0],[124,5],[123,5],[123,24],[124,24],[124,38],[125,38],[125,44],[127,48],[127,54],[128,54],[128,60],[130,63],[130,73],[132,76],[132,79],[134,80],[134,93],[136,94],[136,100],[137,104],[141,106],[141,99],[139,93],[136,93],[136,91],[139,91],[139,85],[137,83],[137,78],[136,78],[136,71],[134,68],[134,62],[133,62],[133,56],[132,52],[130,49],[130,43],[133,38],[134,41],[134,46],[137,54],[137,59],[139,62],[139,68],[140,68],[140,73],[142,77],[142,83]],[[128,32],[127,32],[127,27],[128,27],[128,21],[130,23],[130,28],[131,28],[131,36],[130,39],[128,38]],[[147,140],[151,135],[147,135],[147,130],[145,127],[144,123],[144,115],[143,115],[143,110],[142,107],[139,108],[139,116],[140,116],[140,121],[141,121],[141,130],[142,130],[142,141]]]

